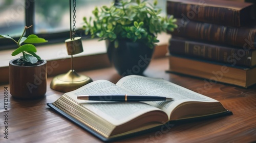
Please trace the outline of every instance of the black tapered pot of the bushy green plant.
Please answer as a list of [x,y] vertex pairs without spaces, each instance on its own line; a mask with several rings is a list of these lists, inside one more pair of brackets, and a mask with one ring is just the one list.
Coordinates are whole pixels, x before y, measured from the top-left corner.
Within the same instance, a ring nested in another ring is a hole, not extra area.
[[106,40],[108,56],[121,76],[142,75],[150,64],[154,49],[141,42],[119,40],[119,46]]

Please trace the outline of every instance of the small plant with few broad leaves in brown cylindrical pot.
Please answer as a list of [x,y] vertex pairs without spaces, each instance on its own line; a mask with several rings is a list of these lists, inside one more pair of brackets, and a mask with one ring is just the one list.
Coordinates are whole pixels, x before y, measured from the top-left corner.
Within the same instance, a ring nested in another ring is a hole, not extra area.
[[19,99],[37,99],[46,93],[47,62],[36,55],[37,50],[32,43],[43,43],[47,40],[33,34],[24,37],[30,27],[25,27],[18,41],[9,35],[0,35],[1,38],[11,39],[17,44],[18,47],[13,51],[12,56],[20,53],[23,55],[9,62],[10,93],[12,97]]

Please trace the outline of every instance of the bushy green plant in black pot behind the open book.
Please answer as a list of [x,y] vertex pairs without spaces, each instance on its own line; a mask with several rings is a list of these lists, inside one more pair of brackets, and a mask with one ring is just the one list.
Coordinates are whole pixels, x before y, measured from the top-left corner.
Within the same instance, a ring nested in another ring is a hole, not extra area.
[[177,28],[173,16],[161,17],[161,9],[147,0],[115,1],[96,7],[93,17],[84,17],[83,29],[92,38],[106,40],[108,56],[122,76],[141,75],[150,63],[157,34]]

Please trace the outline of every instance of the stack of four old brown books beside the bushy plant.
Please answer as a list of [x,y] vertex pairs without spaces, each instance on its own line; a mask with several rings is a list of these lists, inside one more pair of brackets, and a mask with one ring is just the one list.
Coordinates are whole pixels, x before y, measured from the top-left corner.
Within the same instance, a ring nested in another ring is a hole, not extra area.
[[234,1],[167,0],[178,28],[169,40],[173,73],[249,87],[256,83],[253,4]]

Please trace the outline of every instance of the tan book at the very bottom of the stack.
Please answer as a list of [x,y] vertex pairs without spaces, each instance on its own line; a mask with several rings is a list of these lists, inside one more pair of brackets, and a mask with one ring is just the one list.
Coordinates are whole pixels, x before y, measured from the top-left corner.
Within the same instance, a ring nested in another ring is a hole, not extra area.
[[220,82],[244,88],[256,83],[256,67],[232,66],[220,62],[170,55],[167,72],[206,79],[210,86]]

